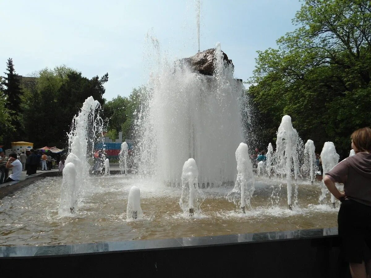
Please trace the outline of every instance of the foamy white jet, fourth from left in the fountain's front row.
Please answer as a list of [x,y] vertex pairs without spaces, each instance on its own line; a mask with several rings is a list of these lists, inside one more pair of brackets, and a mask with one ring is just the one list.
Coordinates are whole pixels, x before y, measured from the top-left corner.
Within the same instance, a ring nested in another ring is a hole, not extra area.
[[227,199],[236,205],[240,205],[241,211],[245,213],[246,206],[251,207],[250,201],[254,193],[254,173],[250,160],[249,147],[240,143],[236,150],[237,179],[234,188],[227,194]]

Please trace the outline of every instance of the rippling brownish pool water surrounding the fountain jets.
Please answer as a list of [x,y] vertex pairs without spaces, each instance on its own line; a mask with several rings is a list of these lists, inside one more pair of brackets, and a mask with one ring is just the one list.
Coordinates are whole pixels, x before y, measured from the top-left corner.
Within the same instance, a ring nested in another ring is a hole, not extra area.
[[[58,216],[61,182],[61,178],[45,178],[0,200],[0,245],[76,244],[337,226],[338,208],[318,205],[319,182],[300,184],[299,206],[290,211],[286,209],[286,186],[282,186],[278,205],[272,207],[269,198],[272,185],[278,187],[278,181],[257,179],[252,209],[246,214],[238,213],[236,206],[226,201],[230,187],[204,189],[206,200],[198,218],[183,216],[178,204],[180,188],[124,175],[91,178],[76,214]],[[126,220],[127,196],[133,185],[141,190],[144,217],[139,221]]]

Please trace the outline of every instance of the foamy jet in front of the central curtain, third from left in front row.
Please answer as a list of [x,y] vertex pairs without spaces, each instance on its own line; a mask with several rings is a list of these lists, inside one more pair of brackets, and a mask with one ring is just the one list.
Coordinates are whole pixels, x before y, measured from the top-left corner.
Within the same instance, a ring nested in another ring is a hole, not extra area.
[[205,195],[198,186],[198,168],[193,158],[184,162],[181,180],[180,208],[183,209],[184,215],[200,214]]

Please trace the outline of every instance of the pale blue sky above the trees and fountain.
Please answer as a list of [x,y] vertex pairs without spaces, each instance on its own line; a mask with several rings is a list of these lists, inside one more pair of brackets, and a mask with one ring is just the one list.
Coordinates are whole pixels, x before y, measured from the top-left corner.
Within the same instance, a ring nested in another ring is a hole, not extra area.
[[[299,0],[201,0],[200,49],[220,42],[235,77],[246,81],[256,50],[275,47],[294,30],[300,6]],[[147,82],[148,30],[171,59],[198,48],[194,0],[0,0],[0,20],[0,72],[8,57],[20,75],[61,64],[89,78],[108,72],[108,100]]]

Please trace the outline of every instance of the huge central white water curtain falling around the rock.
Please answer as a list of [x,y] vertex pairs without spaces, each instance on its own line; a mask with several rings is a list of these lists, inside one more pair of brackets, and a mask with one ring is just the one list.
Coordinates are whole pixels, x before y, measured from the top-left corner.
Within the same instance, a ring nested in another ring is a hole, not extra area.
[[160,72],[150,79],[152,90],[135,112],[138,172],[179,184],[183,162],[194,158],[200,184],[233,183],[236,162],[230,154],[244,140],[244,93],[241,80],[233,78],[232,61],[219,44],[175,63],[159,60]]

